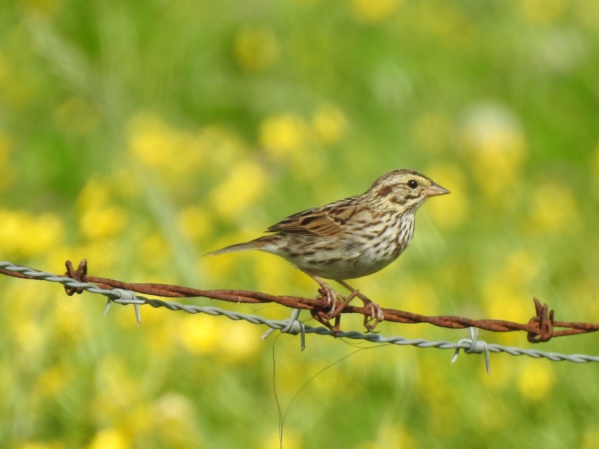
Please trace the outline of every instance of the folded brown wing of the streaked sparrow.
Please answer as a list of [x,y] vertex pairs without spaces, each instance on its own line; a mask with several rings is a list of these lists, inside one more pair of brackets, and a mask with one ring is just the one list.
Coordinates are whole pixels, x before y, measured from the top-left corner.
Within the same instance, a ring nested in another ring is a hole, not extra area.
[[347,220],[359,214],[360,208],[352,198],[342,199],[326,206],[308,209],[267,229],[267,232],[287,232],[297,235],[341,236],[347,232]]

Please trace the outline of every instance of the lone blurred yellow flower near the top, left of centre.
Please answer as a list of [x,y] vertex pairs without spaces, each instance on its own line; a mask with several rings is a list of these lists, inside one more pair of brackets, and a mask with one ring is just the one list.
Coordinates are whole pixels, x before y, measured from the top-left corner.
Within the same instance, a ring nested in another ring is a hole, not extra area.
[[272,29],[253,26],[235,37],[235,59],[246,72],[261,72],[273,66],[279,57],[279,45]]

